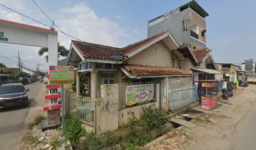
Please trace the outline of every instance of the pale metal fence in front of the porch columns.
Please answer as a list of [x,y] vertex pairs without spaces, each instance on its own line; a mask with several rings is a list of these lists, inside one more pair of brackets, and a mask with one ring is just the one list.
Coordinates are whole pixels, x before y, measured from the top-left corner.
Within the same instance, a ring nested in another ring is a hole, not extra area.
[[76,116],[83,123],[94,126],[95,101],[91,97],[76,97],[70,91],[67,91],[67,93],[68,98],[65,101],[69,101],[69,104],[67,104],[69,116]]

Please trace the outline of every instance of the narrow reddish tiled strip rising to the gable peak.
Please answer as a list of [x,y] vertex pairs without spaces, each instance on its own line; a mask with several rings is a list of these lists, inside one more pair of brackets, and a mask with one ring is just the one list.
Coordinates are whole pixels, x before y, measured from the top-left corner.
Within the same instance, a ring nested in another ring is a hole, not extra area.
[[129,54],[129,53],[132,53],[132,51],[138,49],[139,47],[144,46],[144,45],[147,44],[148,42],[153,41],[153,40],[156,39],[157,37],[163,36],[163,34],[166,34],[166,32],[169,32],[169,31],[161,32],[161,33],[156,34],[156,35],[154,35],[154,36],[148,37],[147,39],[144,39],[144,40],[142,40],[142,41],[135,42],[134,44],[129,44],[128,46],[122,47],[122,51],[123,51],[123,53],[124,53],[125,55],[127,55],[127,54]]

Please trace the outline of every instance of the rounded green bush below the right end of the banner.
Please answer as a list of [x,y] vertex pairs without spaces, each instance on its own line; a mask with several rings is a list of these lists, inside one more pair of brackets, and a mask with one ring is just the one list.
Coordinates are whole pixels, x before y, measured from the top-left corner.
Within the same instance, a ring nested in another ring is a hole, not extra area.
[[148,131],[154,130],[164,123],[164,113],[160,109],[149,107],[142,107],[142,116],[139,123]]

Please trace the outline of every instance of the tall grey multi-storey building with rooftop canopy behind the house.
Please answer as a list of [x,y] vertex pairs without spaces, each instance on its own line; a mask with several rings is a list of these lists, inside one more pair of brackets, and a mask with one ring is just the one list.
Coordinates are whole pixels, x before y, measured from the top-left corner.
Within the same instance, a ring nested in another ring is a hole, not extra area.
[[190,1],[149,21],[147,37],[169,30],[180,46],[206,47],[206,16],[209,14],[196,1]]

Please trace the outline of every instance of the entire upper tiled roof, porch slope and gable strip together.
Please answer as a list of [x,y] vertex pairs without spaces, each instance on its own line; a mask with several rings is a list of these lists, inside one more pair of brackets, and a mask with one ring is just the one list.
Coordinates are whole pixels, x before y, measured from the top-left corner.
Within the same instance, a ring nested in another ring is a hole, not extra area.
[[114,56],[114,55],[125,56],[131,53],[132,51],[135,51],[139,47],[144,46],[148,42],[153,41],[157,37],[162,36],[166,32],[169,32],[169,31],[161,32],[159,34],[156,34],[155,36],[149,37],[139,42],[135,42],[134,44],[130,44],[122,48],[104,46],[100,44],[93,44],[90,42],[73,41],[73,40],[72,40],[72,43],[85,58],[111,59],[110,56]]

